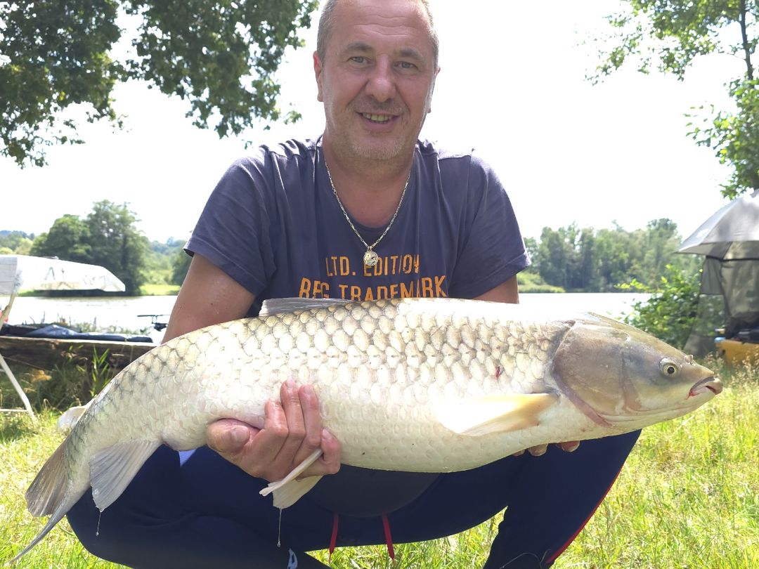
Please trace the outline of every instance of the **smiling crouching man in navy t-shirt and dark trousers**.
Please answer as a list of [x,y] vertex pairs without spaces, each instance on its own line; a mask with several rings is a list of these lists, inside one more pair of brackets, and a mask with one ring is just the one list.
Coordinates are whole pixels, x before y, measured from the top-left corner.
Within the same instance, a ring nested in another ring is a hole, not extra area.
[[[495,174],[471,153],[417,140],[439,71],[426,2],[330,0],[313,67],[323,136],[262,147],[227,171],[187,244],[194,258],[165,339],[257,313],[272,297],[518,302],[528,258]],[[156,451],[102,517],[86,495],[69,514],[77,536],[134,567],[302,569],[322,567],[306,551],[432,539],[508,505],[486,567],[546,567],[635,442],[532,449],[546,454],[464,473],[341,468],[313,389],[288,381],[280,395],[263,429],[209,426],[216,451]],[[279,518],[258,490],[317,448],[305,475],[328,476]]]

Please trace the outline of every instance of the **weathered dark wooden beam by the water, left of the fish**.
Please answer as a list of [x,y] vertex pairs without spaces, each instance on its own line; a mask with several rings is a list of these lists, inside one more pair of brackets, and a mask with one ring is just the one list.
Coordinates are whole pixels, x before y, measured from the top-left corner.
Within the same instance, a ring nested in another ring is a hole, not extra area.
[[102,356],[108,351],[107,361],[116,373],[154,347],[156,344],[148,342],[0,336],[0,354],[11,366],[29,366],[47,371],[67,361],[87,363],[93,360],[95,354]]

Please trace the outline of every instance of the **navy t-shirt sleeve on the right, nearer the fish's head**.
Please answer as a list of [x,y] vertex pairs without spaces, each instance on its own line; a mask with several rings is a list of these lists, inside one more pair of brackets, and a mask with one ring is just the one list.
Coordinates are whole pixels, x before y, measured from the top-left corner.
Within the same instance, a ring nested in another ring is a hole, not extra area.
[[511,200],[496,173],[471,157],[465,238],[451,278],[454,297],[472,298],[508,281],[530,265]]

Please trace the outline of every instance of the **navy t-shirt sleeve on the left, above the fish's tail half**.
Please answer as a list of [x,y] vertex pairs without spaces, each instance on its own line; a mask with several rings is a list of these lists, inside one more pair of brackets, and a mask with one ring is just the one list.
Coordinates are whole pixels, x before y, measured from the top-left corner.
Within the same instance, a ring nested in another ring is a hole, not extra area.
[[240,159],[213,190],[184,247],[258,295],[275,270],[264,157]]

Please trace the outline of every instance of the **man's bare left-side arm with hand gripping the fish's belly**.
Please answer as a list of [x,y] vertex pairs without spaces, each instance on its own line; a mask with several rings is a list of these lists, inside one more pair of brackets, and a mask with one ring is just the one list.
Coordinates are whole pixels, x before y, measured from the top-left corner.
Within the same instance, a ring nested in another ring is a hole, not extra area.
[[[254,294],[209,262],[195,255],[168,321],[164,341],[204,326],[242,318]],[[323,429],[319,401],[309,385],[288,381],[280,401],[268,401],[263,429],[234,419],[211,423],[206,442],[222,457],[251,476],[272,482],[290,473],[317,448],[323,456],[304,476],[335,473],[340,467],[340,443]]]

